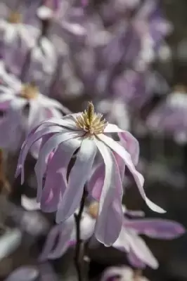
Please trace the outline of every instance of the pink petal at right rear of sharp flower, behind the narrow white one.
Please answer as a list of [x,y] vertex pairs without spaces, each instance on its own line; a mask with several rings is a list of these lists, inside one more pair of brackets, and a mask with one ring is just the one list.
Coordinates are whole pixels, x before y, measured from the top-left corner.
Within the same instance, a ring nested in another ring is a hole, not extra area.
[[140,153],[138,141],[128,131],[124,133],[118,133],[118,136],[120,137],[120,142],[122,143],[122,146],[129,152],[129,154],[131,155],[132,162],[136,166],[138,164]]

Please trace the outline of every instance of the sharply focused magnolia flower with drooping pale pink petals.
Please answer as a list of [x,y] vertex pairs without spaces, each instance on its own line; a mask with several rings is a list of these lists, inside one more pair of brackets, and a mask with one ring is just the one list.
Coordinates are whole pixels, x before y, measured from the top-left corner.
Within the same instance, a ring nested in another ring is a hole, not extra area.
[[[37,201],[48,205],[50,211],[57,211],[56,221],[59,223],[69,218],[79,207],[84,185],[91,175],[96,152],[99,152],[103,158],[103,166],[98,168],[97,177],[93,179],[96,185],[89,188],[88,192],[91,196],[96,192],[101,193],[95,233],[96,238],[106,245],[117,240],[123,217],[122,181],[113,152],[123,160],[134,176],[141,196],[148,206],[153,211],[165,212],[146,197],[143,176],[136,171],[131,155],[122,145],[107,136],[108,133],[121,133],[124,141],[129,134],[118,126],[105,122],[101,114],[94,112],[92,103],[89,103],[88,109],[82,113],[67,115],[62,119],[48,119],[41,122],[26,138],[16,171],[16,176],[21,173],[23,183],[27,153],[36,141],[42,139],[39,158],[34,168],[38,183]],[[130,140],[134,141],[134,138],[131,137]],[[51,152],[54,152],[54,155],[49,159]],[[67,176],[67,168],[75,152],[75,164]],[[111,224],[111,219],[115,227]]]

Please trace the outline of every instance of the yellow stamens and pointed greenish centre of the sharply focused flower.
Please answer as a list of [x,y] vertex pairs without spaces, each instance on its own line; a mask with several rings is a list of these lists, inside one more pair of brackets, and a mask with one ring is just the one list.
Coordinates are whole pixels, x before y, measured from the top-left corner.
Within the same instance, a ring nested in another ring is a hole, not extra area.
[[105,126],[108,124],[105,122],[105,119],[101,120],[102,117],[103,115],[100,113],[95,113],[93,103],[89,103],[87,110],[84,110],[76,118],[75,124],[86,133],[89,133],[89,135],[98,135],[99,133],[103,133]]

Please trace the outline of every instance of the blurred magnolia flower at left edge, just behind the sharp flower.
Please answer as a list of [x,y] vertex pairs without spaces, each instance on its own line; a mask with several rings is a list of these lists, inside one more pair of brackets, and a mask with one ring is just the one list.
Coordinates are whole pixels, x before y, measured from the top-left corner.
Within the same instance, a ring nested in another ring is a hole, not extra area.
[[[1,148],[17,150],[27,133],[49,117],[61,117],[61,113],[69,111],[56,100],[39,93],[35,84],[22,84],[13,75],[1,68],[2,84],[0,85],[1,118],[0,145]],[[16,132],[16,133],[15,133]],[[37,157],[38,145],[32,148],[32,154]]]

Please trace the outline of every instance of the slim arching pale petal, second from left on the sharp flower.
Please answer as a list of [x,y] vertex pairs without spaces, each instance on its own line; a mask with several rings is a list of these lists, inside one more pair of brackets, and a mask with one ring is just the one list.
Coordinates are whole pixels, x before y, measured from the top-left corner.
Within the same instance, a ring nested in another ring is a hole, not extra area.
[[51,138],[49,138],[49,141],[46,141],[44,146],[41,148],[39,152],[39,159],[37,160],[37,164],[34,167],[37,176],[37,185],[38,185],[37,202],[41,200],[41,192],[43,186],[42,182],[43,182],[44,173],[46,171],[46,164],[49,154],[55,148],[58,148],[58,145],[60,145],[60,143],[63,143],[67,140],[70,140],[71,138],[76,138],[76,137],[79,137],[79,134],[73,133],[71,131],[66,133],[57,133],[56,135],[51,136]]

